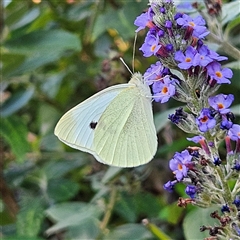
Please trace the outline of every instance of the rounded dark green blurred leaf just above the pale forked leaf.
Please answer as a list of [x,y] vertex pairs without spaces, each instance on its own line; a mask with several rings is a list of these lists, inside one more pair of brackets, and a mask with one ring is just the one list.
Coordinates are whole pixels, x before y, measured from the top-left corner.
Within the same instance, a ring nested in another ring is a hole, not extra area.
[[47,193],[54,201],[67,201],[74,197],[79,190],[79,185],[68,179],[52,179],[48,182]]

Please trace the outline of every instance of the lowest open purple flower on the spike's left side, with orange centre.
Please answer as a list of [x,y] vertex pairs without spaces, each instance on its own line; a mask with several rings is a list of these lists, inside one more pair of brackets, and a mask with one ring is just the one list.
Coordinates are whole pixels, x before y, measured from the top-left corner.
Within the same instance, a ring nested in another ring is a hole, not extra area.
[[178,181],[181,181],[187,176],[189,166],[191,166],[191,160],[192,156],[187,150],[184,150],[181,153],[176,152],[173,159],[170,160],[169,167],[176,175]]

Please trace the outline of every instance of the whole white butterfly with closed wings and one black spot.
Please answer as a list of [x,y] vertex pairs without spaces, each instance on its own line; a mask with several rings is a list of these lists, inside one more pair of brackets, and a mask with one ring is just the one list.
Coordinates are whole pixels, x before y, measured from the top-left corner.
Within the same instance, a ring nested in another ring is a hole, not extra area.
[[157,150],[150,88],[134,73],[128,83],[106,88],[65,113],[54,133],[101,163],[146,164]]

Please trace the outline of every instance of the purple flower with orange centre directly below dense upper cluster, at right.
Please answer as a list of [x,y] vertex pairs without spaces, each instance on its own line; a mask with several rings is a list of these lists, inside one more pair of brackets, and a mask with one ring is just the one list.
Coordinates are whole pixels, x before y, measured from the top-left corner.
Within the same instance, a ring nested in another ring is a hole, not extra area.
[[208,98],[209,105],[215,110],[219,111],[220,114],[226,114],[230,112],[228,107],[231,106],[234,100],[234,96],[232,94],[218,94],[216,96],[212,96]]

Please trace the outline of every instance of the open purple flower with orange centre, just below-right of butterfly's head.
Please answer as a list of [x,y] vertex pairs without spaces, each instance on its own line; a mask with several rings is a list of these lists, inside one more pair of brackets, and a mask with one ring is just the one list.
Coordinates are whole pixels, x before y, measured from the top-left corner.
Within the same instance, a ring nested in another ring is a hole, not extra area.
[[174,81],[170,80],[168,76],[164,77],[163,80],[156,81],[153,83],[153,98],[156,102],[165,103],[175,94]]

